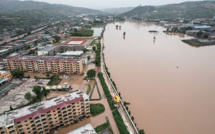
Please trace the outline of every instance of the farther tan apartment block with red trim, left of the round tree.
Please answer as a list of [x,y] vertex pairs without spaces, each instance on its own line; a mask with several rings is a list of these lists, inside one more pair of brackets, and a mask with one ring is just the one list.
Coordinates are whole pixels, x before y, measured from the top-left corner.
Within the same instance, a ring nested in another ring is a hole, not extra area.
[[83,71],[82,59],[63,56],[23,56],[4,59],[5,68],[20,68],[26,72],[80,74]]

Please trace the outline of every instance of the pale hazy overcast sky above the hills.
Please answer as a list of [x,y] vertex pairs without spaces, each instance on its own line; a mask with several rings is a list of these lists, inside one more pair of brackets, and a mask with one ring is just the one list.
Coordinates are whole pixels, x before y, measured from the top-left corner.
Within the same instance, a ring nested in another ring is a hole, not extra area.
[[172,3],[180,3],[184,1],[199,0],[34,0],[55,4],[67,4],[76,7],[86,7],[92,9],[105,9],[116,7],[135,7],[138,5],[165,5]]

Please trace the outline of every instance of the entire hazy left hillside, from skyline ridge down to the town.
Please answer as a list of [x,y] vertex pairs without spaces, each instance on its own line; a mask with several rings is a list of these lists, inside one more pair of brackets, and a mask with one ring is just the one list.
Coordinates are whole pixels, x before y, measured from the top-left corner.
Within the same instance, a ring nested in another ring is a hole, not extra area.
[[[0,0],[0,34],[16,34],[71,15],[103,14],[101,11],[35,1]],[[16,29],[16,31],[14,31]]]

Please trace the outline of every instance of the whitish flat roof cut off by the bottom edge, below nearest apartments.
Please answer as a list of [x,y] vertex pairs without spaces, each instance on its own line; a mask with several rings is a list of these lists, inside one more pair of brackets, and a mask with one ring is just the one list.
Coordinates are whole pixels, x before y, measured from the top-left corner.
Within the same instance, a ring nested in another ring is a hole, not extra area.
[[67,134],[97,134],[91,124],[79,127],[75,130],[70,131]]

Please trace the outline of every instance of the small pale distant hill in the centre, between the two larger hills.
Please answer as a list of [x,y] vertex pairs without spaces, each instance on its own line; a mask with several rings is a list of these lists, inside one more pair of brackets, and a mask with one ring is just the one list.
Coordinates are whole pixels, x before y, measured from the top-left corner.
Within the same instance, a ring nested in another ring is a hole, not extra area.
[[134,7],[109,8],[102,11],[110,14],[122,14],[131,11],[132,9],[134,9]]

